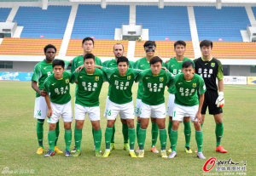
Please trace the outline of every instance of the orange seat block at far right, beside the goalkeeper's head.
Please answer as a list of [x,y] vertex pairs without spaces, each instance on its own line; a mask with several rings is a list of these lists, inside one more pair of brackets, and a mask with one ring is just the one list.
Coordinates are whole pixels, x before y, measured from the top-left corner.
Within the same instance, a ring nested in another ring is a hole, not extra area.
[[[256,59],[256,43],[213,42],[212,55],[218,59]],[[230,63],[231,65],[231,63]]]

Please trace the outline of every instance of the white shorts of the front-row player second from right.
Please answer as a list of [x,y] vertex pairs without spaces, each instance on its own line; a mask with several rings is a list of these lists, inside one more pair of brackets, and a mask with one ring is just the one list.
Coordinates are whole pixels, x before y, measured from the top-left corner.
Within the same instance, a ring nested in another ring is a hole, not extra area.
[[160,105],[147,105],[142,102],[141,105],[141,118],[166,118],[166,104]]

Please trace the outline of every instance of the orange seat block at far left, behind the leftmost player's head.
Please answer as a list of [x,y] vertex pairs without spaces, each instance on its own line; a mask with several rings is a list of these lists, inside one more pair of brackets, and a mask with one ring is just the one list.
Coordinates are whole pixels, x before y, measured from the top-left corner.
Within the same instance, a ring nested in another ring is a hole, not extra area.
[[44,47],[53,44],[57,54],[61,48],[62,39],[40,38],[3,38],[0,54],[4,55],[44,55]]

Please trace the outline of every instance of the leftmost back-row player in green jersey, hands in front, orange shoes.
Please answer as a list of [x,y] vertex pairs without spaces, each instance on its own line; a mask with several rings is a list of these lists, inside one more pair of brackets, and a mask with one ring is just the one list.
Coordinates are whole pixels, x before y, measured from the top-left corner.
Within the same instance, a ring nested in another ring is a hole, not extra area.
[[[34,117],[38,119],[37,124],[37,136],[38,136],[38,151],[37,154],[41,155],[44,152],[44,119],[47,113],[47,105],[44,99],[46,92],[44,91],[44,81],[49,75],[52,74],[52,62],[55,60],[55,54],[57,49],[54,45],[47,45],[44,47],[45,60],[38,62],[35,65],[34,73],[32,75],[32,88],[36,91]],[[65,68],[69,65],[69,61],[65,61]],[[55,140],[55,152],[63,153],[57,145],[58,136],[60,133],[59,122],[56,123],[56,140]]]

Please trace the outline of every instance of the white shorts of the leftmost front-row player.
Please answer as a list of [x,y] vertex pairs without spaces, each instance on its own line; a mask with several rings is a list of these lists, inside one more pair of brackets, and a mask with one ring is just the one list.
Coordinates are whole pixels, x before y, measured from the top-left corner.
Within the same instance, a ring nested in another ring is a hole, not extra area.
[[52,109],[52,115],[48,118],[47,122],[56,123],[59,121],[62,116],[63,122],[72,122],[72,105],[71,101],[67,102],[67,104],[59,105],[53,102],[50,102],[50,106]]

